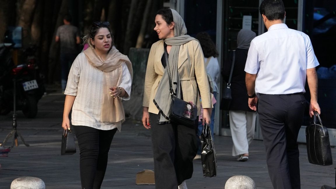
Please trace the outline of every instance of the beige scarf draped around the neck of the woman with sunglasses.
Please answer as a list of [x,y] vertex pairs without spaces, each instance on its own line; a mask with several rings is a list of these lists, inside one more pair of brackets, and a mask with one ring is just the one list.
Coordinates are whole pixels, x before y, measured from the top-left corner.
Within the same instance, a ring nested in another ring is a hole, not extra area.
[[[110,87],[119,86],[122,80],[122,63],[126,63],[131,78],[133,79],[132,63],[128,57],[119,52],[114,46],[103,61],[93,47],[84,50],[84,54],[89,63],[103,71],[103,89],[100,121],[123,122],[125,121],[124,107],[119,98],[111,97]],[[99,91],[97,91],[99,92]]]

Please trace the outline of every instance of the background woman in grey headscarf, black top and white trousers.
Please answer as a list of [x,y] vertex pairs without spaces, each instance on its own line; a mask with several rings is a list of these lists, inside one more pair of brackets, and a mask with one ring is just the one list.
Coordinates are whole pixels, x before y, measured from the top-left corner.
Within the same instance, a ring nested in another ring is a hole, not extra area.
[[[255,37],[255,32],[246,29],[240,30],[237,36],[236,58],[231,79],[232,101],[229,106],[232,156],[238,156],[237,161],[249,159],[249,145],[254,139],[257,113],[248,107],[244,68],[250,43]],[[229,57],[230,60],[224,63],[222,72],[226,82],[230,75],[233,55]]]

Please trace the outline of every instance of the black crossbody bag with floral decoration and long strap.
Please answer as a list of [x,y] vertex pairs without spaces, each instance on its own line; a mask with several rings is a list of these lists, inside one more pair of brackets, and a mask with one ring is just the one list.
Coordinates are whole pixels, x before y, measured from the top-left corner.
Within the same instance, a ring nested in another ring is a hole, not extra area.
[[[167,55],[166,50],[165,50],[165,58],[166,58],[167,72],[168,72],[168,77],[169,77],[169,86],[170,86],[169,90],[170,90],[170,95],[171,95],[171,104],[170,104],[170,111],[169,111],[169,116],[168,116],[169,120],[171,122],[182,124],[187,127],[195,128],[195,123],[196,123],[196,118],[197,118],[197,106],[190,102],[183,101],[174,95],[173,87],[171,85],[168,55]],[[198,95],[196,99],[197,98],[198,98]]]

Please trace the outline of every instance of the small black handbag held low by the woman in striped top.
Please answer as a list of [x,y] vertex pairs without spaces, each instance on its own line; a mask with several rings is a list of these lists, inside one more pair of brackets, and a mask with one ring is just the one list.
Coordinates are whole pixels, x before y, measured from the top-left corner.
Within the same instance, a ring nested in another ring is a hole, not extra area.
[[76,153],[75,137],[71,130],[64,130],[62,135],[61,155]]

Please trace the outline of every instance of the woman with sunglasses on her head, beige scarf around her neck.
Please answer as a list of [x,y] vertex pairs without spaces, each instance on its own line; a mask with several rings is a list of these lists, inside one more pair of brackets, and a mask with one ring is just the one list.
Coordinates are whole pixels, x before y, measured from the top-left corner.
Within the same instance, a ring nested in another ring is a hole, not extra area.
[[125,120],[121,101],[130,99],[133,71],[128,57],[113,46],[108,22],[94,22],[83,39],[90,47],[70,69],[62,127],[70,129],[72,108],[82,188],[97,189],[105,175],[113,136]]

